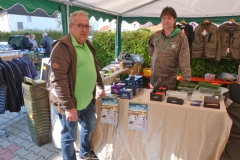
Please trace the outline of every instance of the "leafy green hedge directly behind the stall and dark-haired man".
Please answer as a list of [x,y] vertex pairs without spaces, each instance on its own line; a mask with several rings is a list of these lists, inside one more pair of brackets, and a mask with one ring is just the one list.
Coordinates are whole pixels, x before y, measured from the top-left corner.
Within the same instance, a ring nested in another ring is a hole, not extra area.
[[[122,52],[130,54],[140,54],[144,63],[142,68],[149,67],[151,57],[148,54],[147,41],[151,32],[148,29],[122,32]],[[100,68],[108,65],[114,60],[115,33],[99,32],[93,37],[93,46],[97,51],[97,59]],[[222,72],[238,72],[238,63],[234,60],[224,60],[216,62],[213,59],[192,59],[191,69],[193,77],[204,77],[205,73],[213,73],[216,76]],[[181,75],[181,73],[179,73]]]

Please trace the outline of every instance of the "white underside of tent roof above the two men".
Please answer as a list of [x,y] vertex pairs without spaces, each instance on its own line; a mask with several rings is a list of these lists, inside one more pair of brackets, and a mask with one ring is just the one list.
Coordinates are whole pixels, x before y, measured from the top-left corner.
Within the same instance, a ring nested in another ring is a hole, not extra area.
[[239,0],[52,0],[122,17],[159,17],[166,6],[178,17],[223,17],[240,15]]

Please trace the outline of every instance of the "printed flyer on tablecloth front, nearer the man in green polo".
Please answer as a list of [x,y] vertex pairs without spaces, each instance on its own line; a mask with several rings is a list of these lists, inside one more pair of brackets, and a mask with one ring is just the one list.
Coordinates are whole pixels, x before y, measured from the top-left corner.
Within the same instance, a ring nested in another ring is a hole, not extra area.
[[118,100],[102,98],[101,122],[117,125]]

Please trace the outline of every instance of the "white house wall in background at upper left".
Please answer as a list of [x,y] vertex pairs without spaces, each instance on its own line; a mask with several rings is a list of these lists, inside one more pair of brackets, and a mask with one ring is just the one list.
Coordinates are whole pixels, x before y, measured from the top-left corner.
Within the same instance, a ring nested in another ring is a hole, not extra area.
[[52,29],[57,30],[57,19],[48,17],[31,16],[31,22],[28,22],[26,15],[8,14],[10,31],[18,31],[17,22],[23,22],[23,29]]

